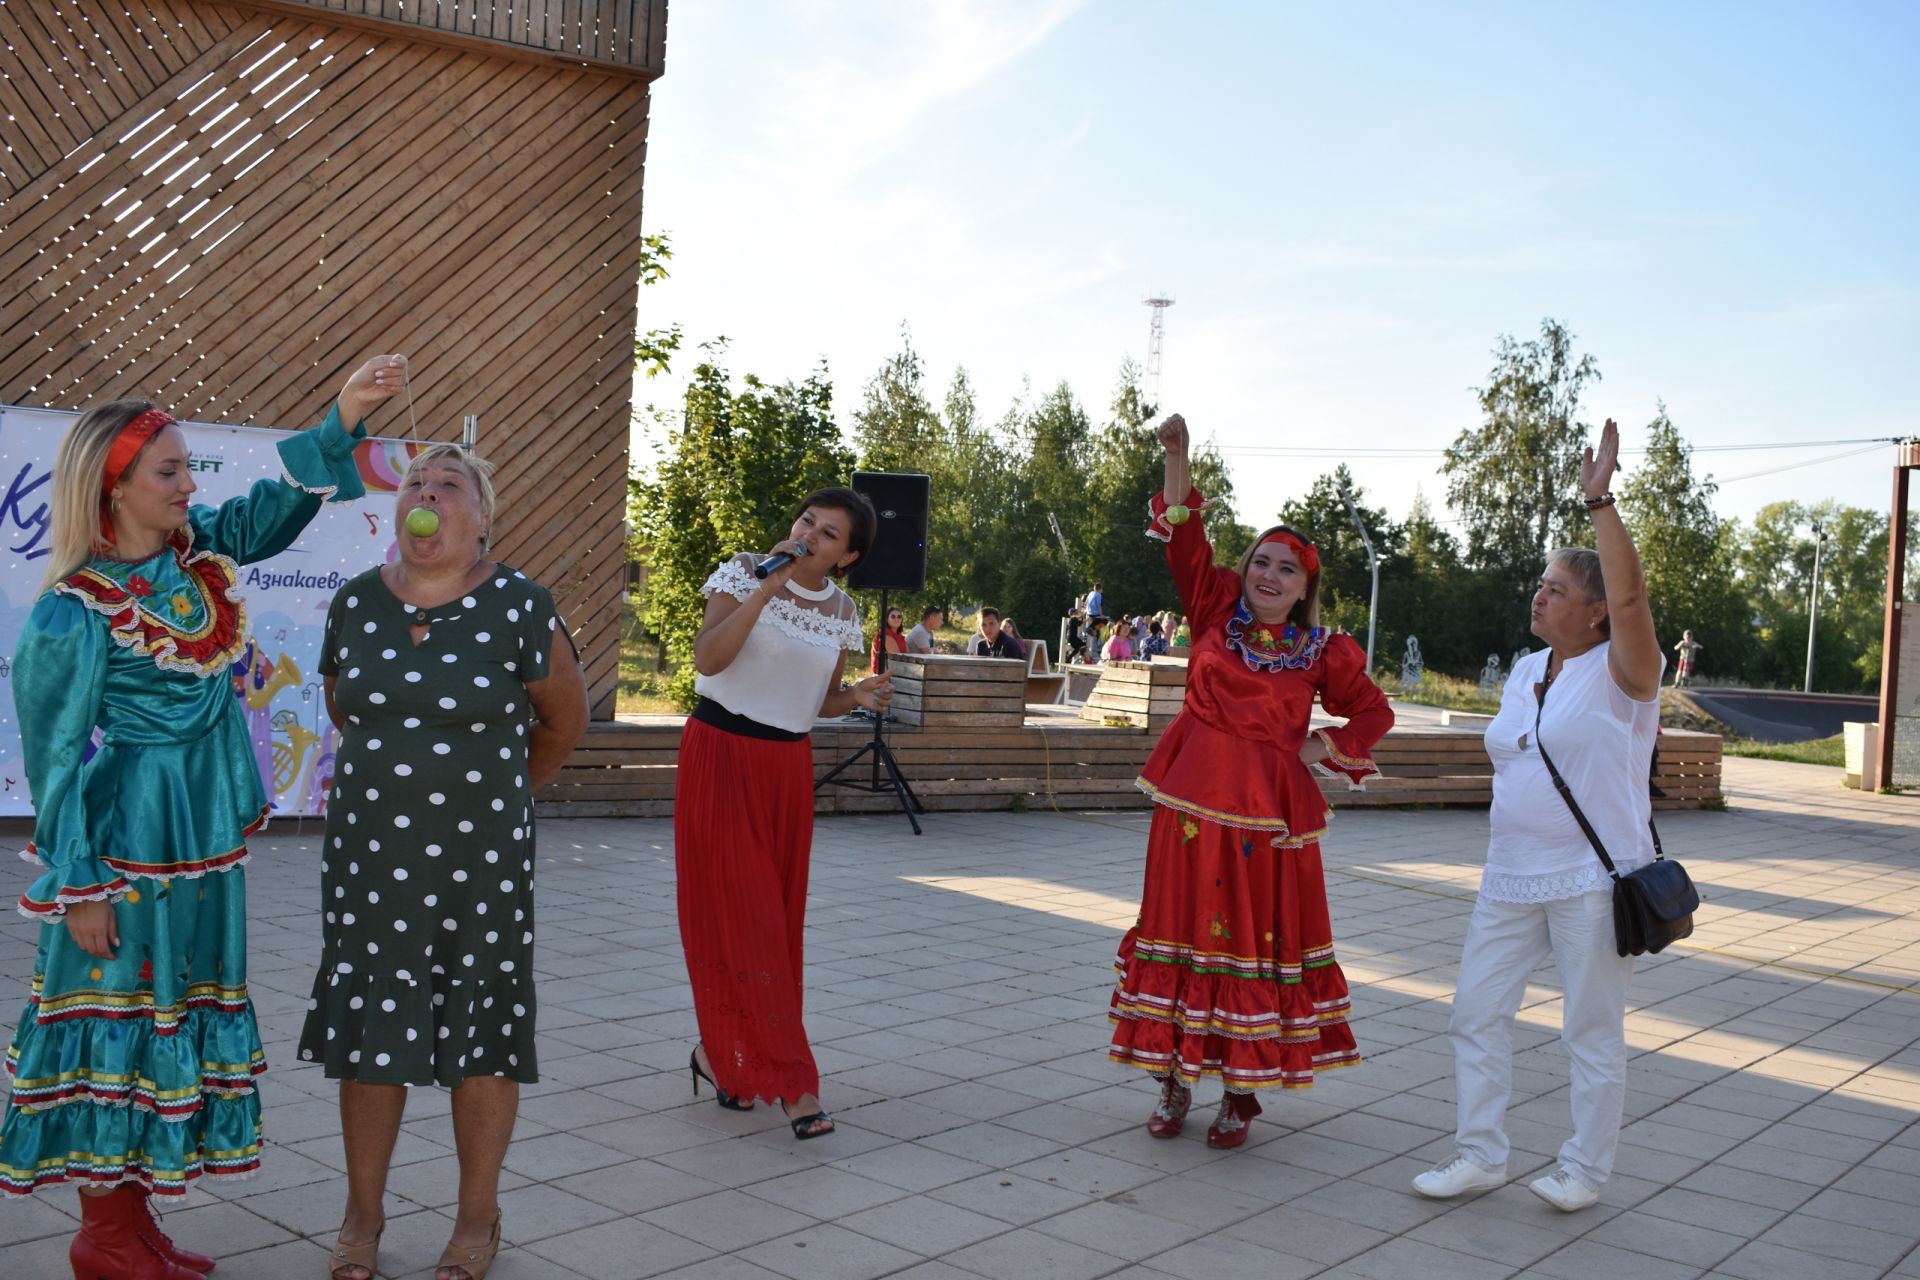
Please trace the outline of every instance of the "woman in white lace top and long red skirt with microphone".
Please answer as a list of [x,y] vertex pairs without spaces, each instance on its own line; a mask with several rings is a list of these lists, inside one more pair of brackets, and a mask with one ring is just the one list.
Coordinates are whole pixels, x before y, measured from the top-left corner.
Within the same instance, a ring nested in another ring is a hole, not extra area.
[[680,737],[674,865],[680,944],[701,1042],[689,1069],[722,1107],[778,1100],[795,1138],[833,1132],[801,1023],[814,750],[806,731],[854,706],[876,714],[889,676],[841,685],[860,616],[829,581],[874,543],[874,507],[852,489],[801,501],[772,557],[737,555],[707,580],[693,641],[699,704]]

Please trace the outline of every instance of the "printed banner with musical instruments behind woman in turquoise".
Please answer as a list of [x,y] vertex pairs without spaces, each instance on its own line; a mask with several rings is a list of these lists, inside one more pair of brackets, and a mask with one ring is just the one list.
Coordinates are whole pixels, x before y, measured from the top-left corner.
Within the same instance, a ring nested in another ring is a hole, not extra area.
[[[10,687],[13,649],[46,574],[52,543],[48,497],[54,453],[79,415],[0,405],[0,816],[33,814]],[[275,445],[286,432],[182,422],[192,451],[196,503],[217,507],[255,480],[282,476]],[[361,441],[353,459],[367,497],[326,503],[305,533],[271,560],[240,566],[248,647],[232,668],[259,775],[275,816],[326,812],[334,779],[334,725],[315,670],[334,591],[392,560],[394,493],[422,445]]]

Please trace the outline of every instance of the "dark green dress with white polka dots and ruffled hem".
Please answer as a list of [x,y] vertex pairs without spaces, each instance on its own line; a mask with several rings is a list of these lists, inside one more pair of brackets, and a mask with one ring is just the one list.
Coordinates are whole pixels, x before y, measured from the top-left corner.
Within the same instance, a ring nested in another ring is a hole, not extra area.
[[346,718],[326,802],[321,969],[300,1057],[365,1084],[538,1080],[526,683],[559,616],[507,568],[424,610],[378,570],[336,595],[321,674]]

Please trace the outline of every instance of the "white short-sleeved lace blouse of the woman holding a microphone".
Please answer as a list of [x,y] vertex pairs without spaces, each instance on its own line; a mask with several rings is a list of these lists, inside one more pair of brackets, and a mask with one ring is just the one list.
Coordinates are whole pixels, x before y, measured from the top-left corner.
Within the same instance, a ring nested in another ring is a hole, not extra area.
[[[753,566],[758,557],[722,560],[703,593],[726,591],[745,601],[758,589]],[[814,591],[789,581],[755,618],[747,643],[724,672],[701,676],[695,693],[735,716],[758,720],[787,733],[806,733],[820,716],[828,681],[841,652],[862,652],[860,614],[831,581]]]

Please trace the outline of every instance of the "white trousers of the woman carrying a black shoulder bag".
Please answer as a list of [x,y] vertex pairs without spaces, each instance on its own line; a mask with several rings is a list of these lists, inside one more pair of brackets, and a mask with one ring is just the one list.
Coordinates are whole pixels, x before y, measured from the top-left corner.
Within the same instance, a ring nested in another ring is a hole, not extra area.
[[1594,1186],[1613,1173],[1626,1103],[1626,984],[1632,956],[1615,952],[1613,892],[1559,902],[1480,898],[1459,958],[1453,1042],[1459,1151],[1488,1169],[1507,1167],[1507,1096],[1513,1092],[1513,1017],[1526,977],[1548,958],[1561,971],[1561,1042],[1572,1057],[1572,1138],[1561,1163]]

